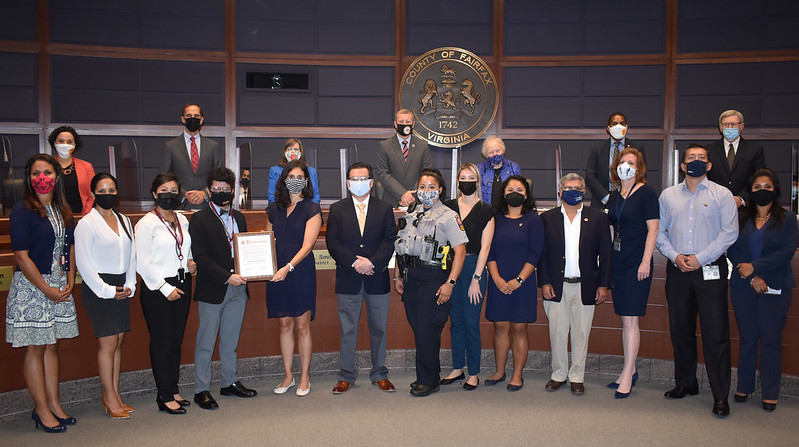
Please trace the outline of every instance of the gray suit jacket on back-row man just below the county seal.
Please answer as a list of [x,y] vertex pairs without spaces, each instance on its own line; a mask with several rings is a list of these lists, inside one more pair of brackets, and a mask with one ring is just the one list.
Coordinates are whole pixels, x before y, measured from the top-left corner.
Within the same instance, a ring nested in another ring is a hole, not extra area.
[[433,157],[427,142],[415,135],[410,139],[407,162],[402,157],[402,148],[396,135],[381,141],[375,172],[385,189],[383,200],[396,206],[405,191],[416,189],[419,174],[432,166]]

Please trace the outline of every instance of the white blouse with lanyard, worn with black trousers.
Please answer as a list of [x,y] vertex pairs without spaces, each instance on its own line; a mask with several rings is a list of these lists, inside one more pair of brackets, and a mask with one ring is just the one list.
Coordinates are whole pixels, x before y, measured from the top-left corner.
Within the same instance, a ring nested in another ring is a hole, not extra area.
[[160,290],[165,297],[175,287],[169,285],[164,278],[177,276],[180,267],[186,269],[188,274],[188,262],[191,258],[189,221],[183,214],[175,214],[183,229],[183,244],[180,246],[183,261],[178,259],[175,238],[167,229],[167,224],[161,222],[155,213],[145,214],[136,224],[137,270],[150,290]]

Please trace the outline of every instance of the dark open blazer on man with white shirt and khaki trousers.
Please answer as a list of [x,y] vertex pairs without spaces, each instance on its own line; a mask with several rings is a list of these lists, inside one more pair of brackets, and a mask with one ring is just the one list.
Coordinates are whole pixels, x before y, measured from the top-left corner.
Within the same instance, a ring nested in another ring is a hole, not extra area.
[[[637,148],[636,148],[637,149]],[[563,272],[566,269],[566,239],[561,207],[541,215],[544,221],[544,254],[538,267],[538,284],[551,284],[555,298],[563,296]],[[583,304],[596,304],[596,289],[611,285],[610,221],[599,208],[583,206],[580,225],[580,277]]]

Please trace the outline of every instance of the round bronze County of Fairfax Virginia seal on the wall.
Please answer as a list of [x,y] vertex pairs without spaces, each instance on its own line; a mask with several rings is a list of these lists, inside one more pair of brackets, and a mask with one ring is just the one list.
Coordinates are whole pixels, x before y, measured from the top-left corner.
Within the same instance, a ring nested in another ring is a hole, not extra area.
[[399,103],[413,112],[419,138],[439,147],[464,146],[488,129],[497,114],[497,83],[479,57],[460,48],[437,48],[405,71]]

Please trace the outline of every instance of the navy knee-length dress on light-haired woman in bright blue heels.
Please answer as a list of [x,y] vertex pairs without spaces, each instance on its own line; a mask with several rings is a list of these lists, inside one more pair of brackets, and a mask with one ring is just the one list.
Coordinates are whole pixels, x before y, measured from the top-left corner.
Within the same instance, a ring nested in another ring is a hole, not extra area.
[[638,281],[638,266],[646,246],[646,221],[659,219],[658,196],[652,187],[644,185],[623,199],[619,191],[608,198],[608,218],[621,238],[621,251],[613,250],[613,310],[616,314],[633,317],[646,315],[649,288],[652,285],[654,262],[650,261],[649,277]]

